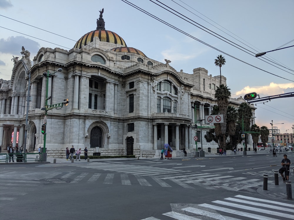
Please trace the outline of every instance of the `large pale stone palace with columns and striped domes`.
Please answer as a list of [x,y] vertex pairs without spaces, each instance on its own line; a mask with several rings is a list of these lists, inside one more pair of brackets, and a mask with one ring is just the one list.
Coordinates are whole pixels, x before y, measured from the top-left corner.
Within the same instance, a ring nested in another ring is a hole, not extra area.
[[[71,145],[101,155],[154,156],[164,143],[174,153],[195,150],[193,137],[200,136],[200,129],[194,129],[195,118],[204,119],[216,105],[220,76],[208,75],[204,68],[194,69],[193,74],[178,72],[169,60],[162,63],[127,47],[118,34],[105,30],[102,13],[96,30],[83,35],[69,51],[41,48],[33,64],[29,51],[23,48],[21,53],[21,60],[13,59],[11,80],[0,80],[0,145],[4,148],[24,145],[25,129],[26,148],[43,147],[47,78],[47,104],[70,101],[47,112],[49,156],[64,155]],[[25,126],[29,77],[23,64],[31,73],[29,126]],[[58,68],[62,71],[56,72]],[[224,76],[221,82],[226,84]],[[240,97],[229,103],[238,107],[243,101]],[[206,131],[203,128],[202,136]],[[198,142],[201,148],[200,138]],[[203,138],[204,150],[217,148]]]

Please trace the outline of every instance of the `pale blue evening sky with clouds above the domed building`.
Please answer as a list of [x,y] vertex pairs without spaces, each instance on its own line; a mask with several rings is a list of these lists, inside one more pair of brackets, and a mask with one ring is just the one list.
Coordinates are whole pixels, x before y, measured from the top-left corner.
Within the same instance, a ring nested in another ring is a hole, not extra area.
[[[294,47],[275,50],[294,45],[293,0],[0,0],[0,78],[11,79],[11,59],[21,57],[22,46],[31,60],[41,47],[73,48],[96,29],[102,8],[106,30],[151,59],[171,60],[178,72],[193,74],[194,68],[203,67],[208,75],[219,75],[214,60],[223,55],[221,73],[232,98],[250,92],[259,97],[294,92]],[[273,120],[281,133],[292,133],[294,97],[255,104],[258,126],[271,129]]]

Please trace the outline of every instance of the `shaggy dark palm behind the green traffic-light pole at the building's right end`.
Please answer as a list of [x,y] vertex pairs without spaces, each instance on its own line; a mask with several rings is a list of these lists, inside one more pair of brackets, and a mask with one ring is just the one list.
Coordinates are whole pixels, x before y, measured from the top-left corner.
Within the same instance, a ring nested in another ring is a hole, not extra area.
[[[240,124],[243,123],[243,131],[250,131],[251,109],[246,102],[242,102],[238,109]],[[247,151],[247,135],[245,134],[245,151]]]

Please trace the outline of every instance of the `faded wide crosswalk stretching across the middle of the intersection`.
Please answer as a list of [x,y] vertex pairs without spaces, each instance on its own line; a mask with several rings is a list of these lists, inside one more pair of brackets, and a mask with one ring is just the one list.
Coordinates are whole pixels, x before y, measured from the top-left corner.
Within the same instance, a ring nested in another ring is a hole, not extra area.
[[[246,177],[234,177],[232,175],[211,174],[184,171],[171,168],[131,165],[124,163],[69,163],[66,164],[70,167],[83,167],[95,170],[104,170],[115,172],[114,174],[94,173],[89,176],[89,173],[77,174],[76,172],[68,172],[60,179],[69,178],[68,182],[76,183],[80,181],[93,182],[101,181],[101,184],[113,184],[113,179],[120,178],[122,185],[140,184],[142,186],[155,186],[161,187],[183,187],[183,188],[196,188],[201,185],[206,189],[227,189],[231,191],[247,191],[256,192],[256,189],[263,186],[262,179],[248,179]],[[42,164],[39,167],[58,167],[64,164]],[[135,178],[134,178],[135,177]],[[54,177],[56,178],[56,177]],[[268,181],[272,183],[273,181]]]

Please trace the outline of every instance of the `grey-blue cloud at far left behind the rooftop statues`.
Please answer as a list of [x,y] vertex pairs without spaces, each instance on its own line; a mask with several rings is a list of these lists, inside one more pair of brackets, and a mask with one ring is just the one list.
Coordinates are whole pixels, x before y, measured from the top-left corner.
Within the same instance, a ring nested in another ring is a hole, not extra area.
[[20,55],[22,46],[33,54],[38,53],[40,49],[38,42],[23,36],[11,36],[6,40],[4,38],[0,39],[0,53]]

